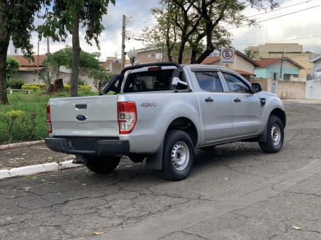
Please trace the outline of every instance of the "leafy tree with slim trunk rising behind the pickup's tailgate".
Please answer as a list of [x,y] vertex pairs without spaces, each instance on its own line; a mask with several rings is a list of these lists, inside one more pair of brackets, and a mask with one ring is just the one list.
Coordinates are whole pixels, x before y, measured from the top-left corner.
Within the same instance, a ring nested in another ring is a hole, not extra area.
[[[110,0],[115,4],[115,0]],[[43,19],[45,23],[38,26],[39,37],[50,36],[54,41],[64,41],[67,33],[72,34],[71,61],[71,97],[78,94],[78,77],[80,66],[79,27],[85,28],[85,40],[91,45],[95,40],[98,49],[98,36],[104,29],[102,16],[107,14],[109,0],[54,0],[46,8]]]

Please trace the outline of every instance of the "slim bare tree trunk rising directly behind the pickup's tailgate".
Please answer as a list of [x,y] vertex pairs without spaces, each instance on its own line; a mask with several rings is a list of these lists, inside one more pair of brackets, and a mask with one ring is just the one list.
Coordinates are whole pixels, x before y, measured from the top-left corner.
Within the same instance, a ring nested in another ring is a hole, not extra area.
[[71,79],[70,79],[70,95],[77,97],[78,95],[78,78],[79,78],[79,61],[80,61],[80,43],[79,43],[79,15],[72,27],[72,62],[71,62]]

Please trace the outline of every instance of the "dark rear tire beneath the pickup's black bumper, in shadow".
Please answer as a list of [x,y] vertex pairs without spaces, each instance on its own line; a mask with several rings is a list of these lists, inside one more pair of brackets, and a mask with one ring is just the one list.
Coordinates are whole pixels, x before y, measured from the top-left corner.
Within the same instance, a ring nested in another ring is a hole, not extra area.
[[85,161],[86,167],[94,173],[111,173],[120,163],[120,157],[107,156],[107,157],[87,157]]

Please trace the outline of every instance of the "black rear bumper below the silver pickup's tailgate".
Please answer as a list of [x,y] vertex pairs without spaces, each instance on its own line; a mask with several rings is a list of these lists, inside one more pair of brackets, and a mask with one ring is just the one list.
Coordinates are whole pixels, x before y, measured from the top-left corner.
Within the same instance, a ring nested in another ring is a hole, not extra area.
[[47,138],[45,145],[54,152],[96,156],[126,155],[130,149],[129,141],[89,137]]

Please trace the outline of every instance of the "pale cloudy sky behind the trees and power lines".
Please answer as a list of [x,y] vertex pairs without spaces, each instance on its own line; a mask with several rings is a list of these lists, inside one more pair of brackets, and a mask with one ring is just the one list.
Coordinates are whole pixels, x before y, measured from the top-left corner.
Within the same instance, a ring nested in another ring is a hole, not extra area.
[[[243,51],[249,45],[264,43],[300,43],[304,51],[321,53],[321,0],[281,0],[280,8],[269,12],[258,11],[247,8],[244,11],[246,16],[251,16],[258,21],[256,26],[242,26],[230,28],[232,34],[232,46]],[[134,40],[140,38],[144,27],[153,27],[156,24],[151,15],[151,8],[158,5],[157,0],[116,0],[115,6],[110,5],[108,14],[103,16],[102,24],[105,29],[100,40],[100,49],[93,43],[92,46],[85,42],[84,30],[80,30],[80,47],[84,51],[100,52],[100,60],[106,60],[107,56],[118,58],[121,53],[122,43],[122,15],[126,15],[126,36],[131,40],[126,40],[126,49],[140,49],[146,42]],[[286,15],[286,16],[282,16]],[[37,20],[36,20],[37,23]],[[38,35],[32,34],[32,44],[34,52],[37,51]],[[71,45],[71,36],[65,43],[54,43],[49,41],[50,52],[58,51]],[[47,42],[45,39],[40,42],[40,54],[47,52]],[[10,45],[8,54],[14,54],[14,47]]]

